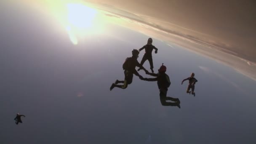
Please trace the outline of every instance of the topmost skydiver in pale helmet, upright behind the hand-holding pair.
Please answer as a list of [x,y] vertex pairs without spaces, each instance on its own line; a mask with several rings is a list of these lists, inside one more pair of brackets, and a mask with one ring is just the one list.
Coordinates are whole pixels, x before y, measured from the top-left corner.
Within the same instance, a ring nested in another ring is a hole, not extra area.
[[[149,64],[150,64],[150,69],[152,71],[152,73],[154,73],[154,70],[153,70],[153,60],[152,60],[152,51],[153,49],[155,49],[155,53],[157,53],[157,48],[152,45],[152,38],[149,38],[147,40],[147,45],[144,45],[142,48],[139,49],[139,51],[142,51],[144,48],[145,48],[145,54],[143,56],[143,58],[141,59],[141,65],[143,66],[144,62],[146,60],[149,61]],[[141,70],[141,68],[138,69],[138,71]]]

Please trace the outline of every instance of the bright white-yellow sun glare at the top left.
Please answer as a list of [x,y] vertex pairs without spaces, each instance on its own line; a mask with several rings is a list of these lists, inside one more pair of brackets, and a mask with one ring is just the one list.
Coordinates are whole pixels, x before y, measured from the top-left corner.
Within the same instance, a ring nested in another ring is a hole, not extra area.
[[106,19],[96,9],[86,6],[82,0],[47,0],[46,2],[74,45],[88,35],[104,32]]

